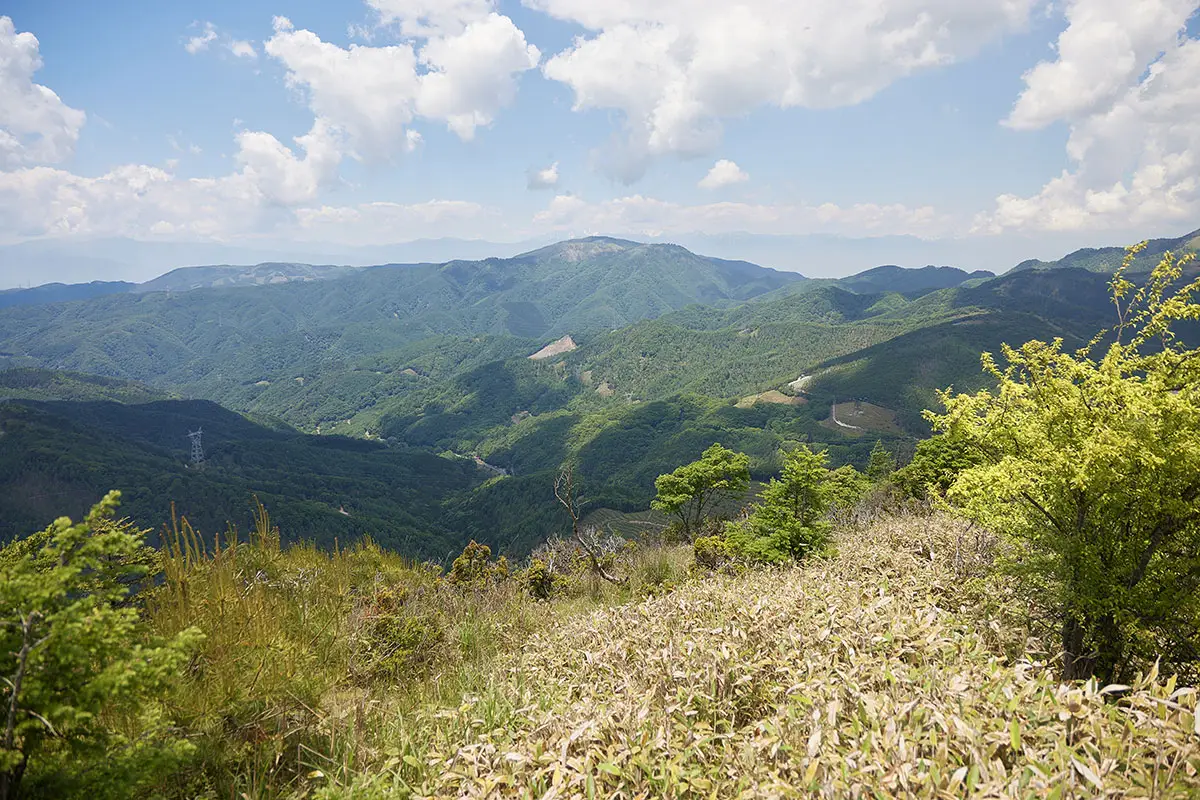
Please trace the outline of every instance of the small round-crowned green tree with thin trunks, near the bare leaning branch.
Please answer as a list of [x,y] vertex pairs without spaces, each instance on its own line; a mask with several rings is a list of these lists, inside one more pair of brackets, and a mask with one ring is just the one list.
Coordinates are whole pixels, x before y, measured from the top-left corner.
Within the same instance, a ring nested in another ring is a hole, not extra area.
[[706,513],[724,500],[739,498],[750,487],[750,457],[714,444],[698,461],[654,481],[653,509],[674,515],[684,536],[694,539]]

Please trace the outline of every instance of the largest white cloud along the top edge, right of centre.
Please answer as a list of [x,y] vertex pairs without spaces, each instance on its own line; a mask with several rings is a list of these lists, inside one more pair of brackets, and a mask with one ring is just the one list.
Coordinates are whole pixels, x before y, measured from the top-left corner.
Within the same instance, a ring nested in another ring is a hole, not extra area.
[[624,113],[613,157],[626,180],[648,158],[700,155],[721,119],[762,106],[860,103],[1026,25],[1042,0],[523,0],[589,34],[551,58],[575,108]]

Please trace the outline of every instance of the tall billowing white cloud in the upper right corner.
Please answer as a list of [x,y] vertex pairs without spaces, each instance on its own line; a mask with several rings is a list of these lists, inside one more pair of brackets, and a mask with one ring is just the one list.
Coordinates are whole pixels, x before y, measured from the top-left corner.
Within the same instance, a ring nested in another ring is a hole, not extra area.
[[1070,127],[1070,168],[1032,197],[1002,194],[977,233],[1146,230],[1200,217],[1200,5],[1074,0],[1057,59],[1026,76],[1007,122]]

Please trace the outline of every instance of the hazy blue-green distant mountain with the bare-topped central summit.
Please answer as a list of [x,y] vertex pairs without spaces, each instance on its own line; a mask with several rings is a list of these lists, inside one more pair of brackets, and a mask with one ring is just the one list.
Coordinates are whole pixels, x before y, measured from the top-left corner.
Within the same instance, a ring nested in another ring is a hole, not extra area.
[[319,283],[7,308],[0,366],[76,369],[220,399],[431,336],[553,339],[800,279],[671,245],[577,240],[511,259],[386,265]]

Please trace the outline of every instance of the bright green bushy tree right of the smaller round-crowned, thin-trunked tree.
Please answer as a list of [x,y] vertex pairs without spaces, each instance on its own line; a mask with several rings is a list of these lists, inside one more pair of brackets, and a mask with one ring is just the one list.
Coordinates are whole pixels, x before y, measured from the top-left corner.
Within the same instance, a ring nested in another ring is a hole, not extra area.
[[829,509],[824,481],[826,453],[806,445],[784,453],[784,471],[758,494],[758,504],[743,522],[730,523],[726,539],[734,552],[756,561],[799,560],[820,549],[828,537]]

